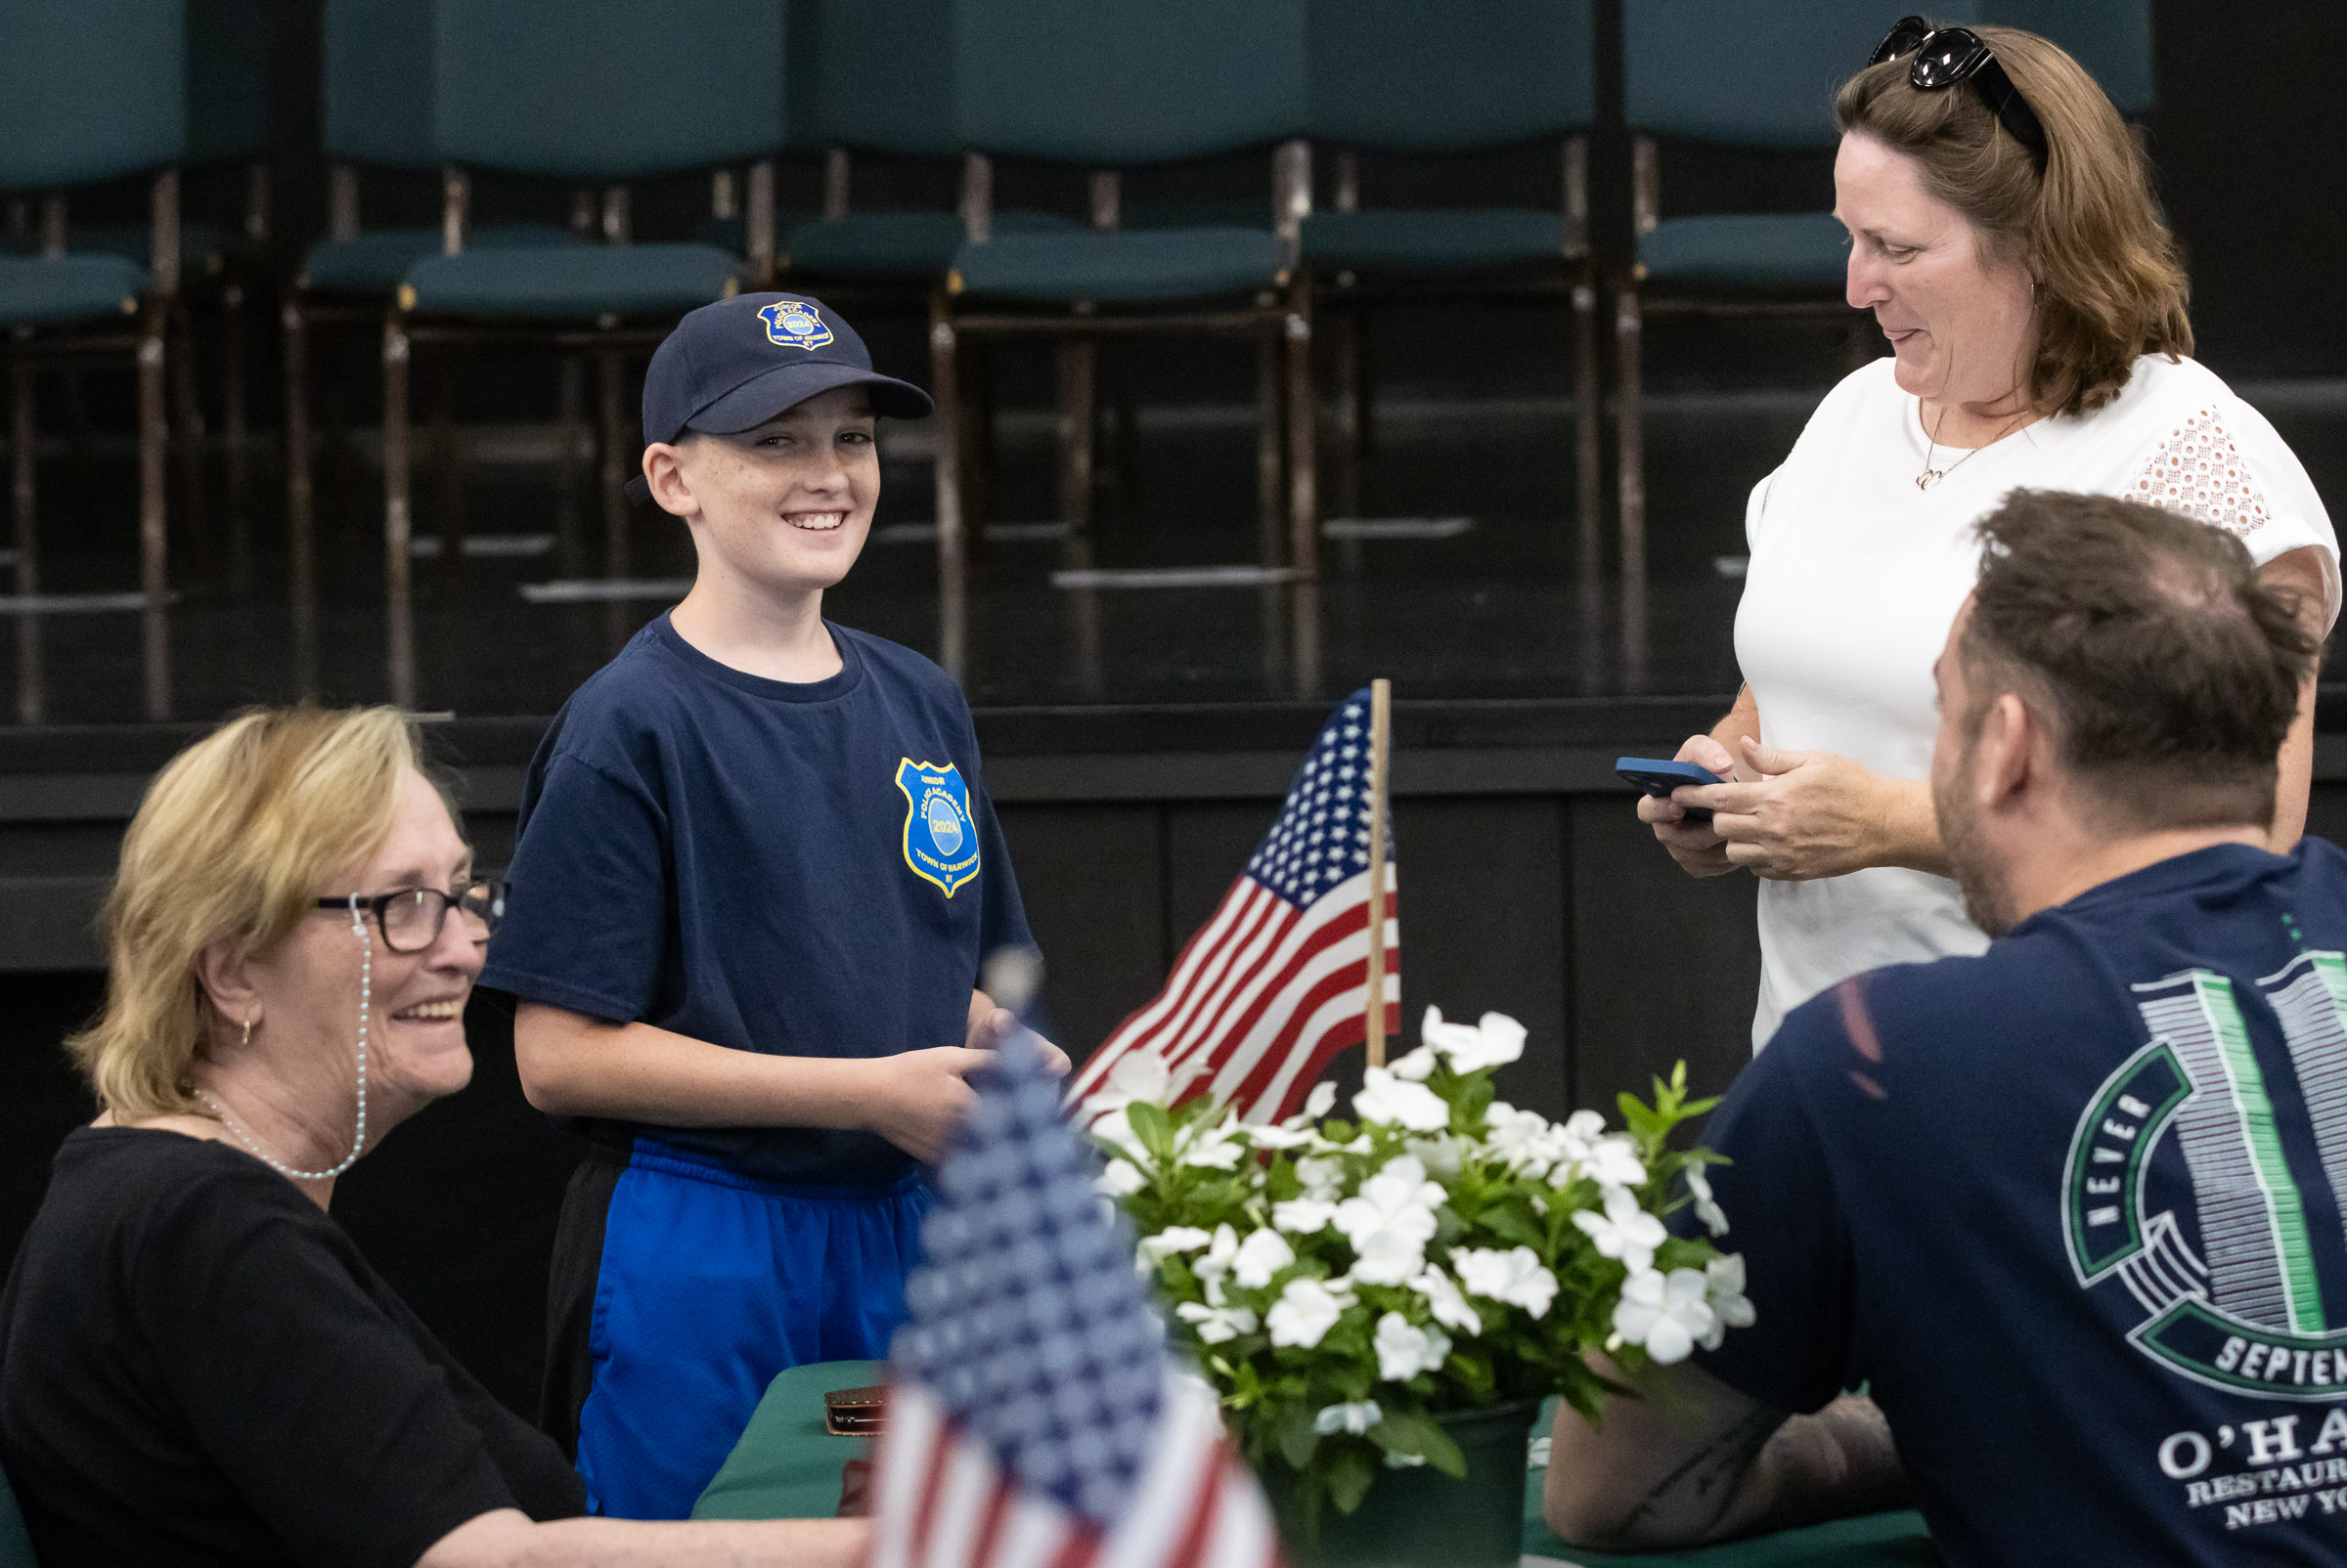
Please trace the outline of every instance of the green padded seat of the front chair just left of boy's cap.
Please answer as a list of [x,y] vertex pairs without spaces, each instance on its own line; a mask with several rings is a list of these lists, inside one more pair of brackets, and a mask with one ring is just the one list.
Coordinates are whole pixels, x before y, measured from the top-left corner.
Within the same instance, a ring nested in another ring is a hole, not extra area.
[[739,286],[713,244],[580,244],[432,256],[408,270],[401,305],[469,317],[683,315]]

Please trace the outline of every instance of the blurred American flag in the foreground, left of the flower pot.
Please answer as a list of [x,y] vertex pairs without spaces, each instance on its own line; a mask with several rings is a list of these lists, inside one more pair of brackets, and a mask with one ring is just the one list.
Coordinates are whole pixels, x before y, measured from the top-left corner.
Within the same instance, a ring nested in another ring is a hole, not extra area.
[[868,1568],[1274,1568],[1263,1491],[1169,1359],[1030,1035],[969,1082],[906,1282]]

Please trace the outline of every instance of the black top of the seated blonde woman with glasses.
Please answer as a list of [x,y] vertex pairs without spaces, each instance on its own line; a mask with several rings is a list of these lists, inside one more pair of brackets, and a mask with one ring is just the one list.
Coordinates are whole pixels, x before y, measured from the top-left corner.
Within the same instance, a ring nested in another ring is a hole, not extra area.
[[577,1474],[317,1204],[225,1143],[80,1129],[0,1296],[0,1467],[47,1568],[411,1568]]

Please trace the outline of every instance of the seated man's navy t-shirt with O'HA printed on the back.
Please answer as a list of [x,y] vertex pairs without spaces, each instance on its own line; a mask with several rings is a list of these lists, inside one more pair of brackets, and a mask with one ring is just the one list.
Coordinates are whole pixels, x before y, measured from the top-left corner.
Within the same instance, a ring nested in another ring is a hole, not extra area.
[[1948,1563],[2347,1561],[2347,854],[2220,845],[1795,1009],[1704,1141],[1786,1411]]

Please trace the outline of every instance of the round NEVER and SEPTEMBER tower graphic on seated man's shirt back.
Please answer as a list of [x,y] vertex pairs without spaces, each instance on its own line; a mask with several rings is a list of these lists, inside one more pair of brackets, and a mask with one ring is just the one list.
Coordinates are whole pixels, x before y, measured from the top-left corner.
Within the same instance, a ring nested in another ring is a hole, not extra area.
[[[2347,955],[2300,953],[2255,981],[2295,1082],[2260,1066],[2232,979],[2185,969],[2133,991],[2150,1042],[2086,1101],[2063,1174],[2077,1282],[2124,1286],[2115,1296],[2138,1319],[2126,1338],[2185,1378],[2347,1399],[2347,1312],[2324,1305],[2309,1228],[2309,1207],[2333,1214],[2335,1197],[2300,1190],[2314,1176],[2281,1131],[2312,1124],[2321,1169],[2347,1171]],[[2162,1453],[2178,1479],[2194,1460],[2209,1455]]]

